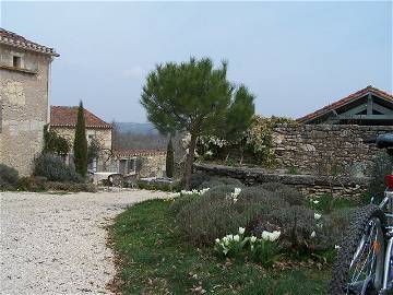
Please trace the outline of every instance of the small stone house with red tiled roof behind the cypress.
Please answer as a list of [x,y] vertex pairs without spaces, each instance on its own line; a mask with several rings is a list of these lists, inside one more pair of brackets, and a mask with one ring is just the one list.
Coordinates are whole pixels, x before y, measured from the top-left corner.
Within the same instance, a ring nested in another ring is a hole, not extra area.
[[[72,144],[75,137],[75,126],[78,120],[78,106],[51,106],[50,107],[50,128],[59,135],[67,139],[71,144],[71,152],[67,156],[67,162],[73,161]],[[102,156],[90,163],[90,168],[96,172],[105,170],[106,154],[111,153],[111,132],[112,126],[84,109],[87,143],[93,138],[97,139],[102,148]]]

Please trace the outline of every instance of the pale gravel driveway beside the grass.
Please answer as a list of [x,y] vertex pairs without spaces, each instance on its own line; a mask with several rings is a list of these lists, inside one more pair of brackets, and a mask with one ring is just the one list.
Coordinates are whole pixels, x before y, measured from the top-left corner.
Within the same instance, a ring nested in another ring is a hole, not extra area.
[[127,205],[165,192],[0,192],[0,294],[111,294],[105,227]]

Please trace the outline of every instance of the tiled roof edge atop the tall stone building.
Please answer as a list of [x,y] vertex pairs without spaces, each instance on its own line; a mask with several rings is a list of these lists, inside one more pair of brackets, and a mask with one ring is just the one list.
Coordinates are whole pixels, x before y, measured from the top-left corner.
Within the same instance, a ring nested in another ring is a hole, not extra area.
[[35,42],[27,40],[25,37],[20,36],[15,33],[7,31],[0,27],[0,44],[7,44],[9,46],[32,50],[36,52],[40,52],[44,55],[49,55],[53,57],[58,57],[59,55],[55,51],[53,48],[46,47],[44,45],[39,45]]

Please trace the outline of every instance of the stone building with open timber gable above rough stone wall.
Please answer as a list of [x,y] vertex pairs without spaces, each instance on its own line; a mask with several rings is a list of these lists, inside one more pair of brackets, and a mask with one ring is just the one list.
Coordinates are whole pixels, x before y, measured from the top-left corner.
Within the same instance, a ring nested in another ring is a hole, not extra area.
[[282,168],[318,175],[368,176],[377,149],[365,139],[393,132],[393,96],[367,86],[273,130]]

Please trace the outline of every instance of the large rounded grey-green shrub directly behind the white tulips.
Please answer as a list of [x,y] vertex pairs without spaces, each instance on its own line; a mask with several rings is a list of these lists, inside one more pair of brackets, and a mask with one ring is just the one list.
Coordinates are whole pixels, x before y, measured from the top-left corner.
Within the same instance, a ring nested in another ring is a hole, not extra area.
[[[234,233],[260,214],[288,204],[272,192],[259,188],[241,188],[237,201],[231,193],[237,186],[218,186],[202,196],[191,197],[180,206],[177,222],[193,244],[209,245],[216,238]],[[182,197],[180,197],[182,198]]]

